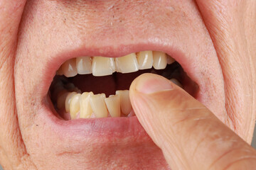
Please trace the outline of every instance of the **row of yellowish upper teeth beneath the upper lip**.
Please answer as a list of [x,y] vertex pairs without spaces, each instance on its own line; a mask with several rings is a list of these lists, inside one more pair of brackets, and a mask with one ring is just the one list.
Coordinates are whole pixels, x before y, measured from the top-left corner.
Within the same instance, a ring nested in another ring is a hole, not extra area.
[[129,73],[139,69],[164,69],[175,60],[164,52],[143,51],[124,57],[78,57],[65,62],[57,74],[74,77],[77,74],[93,74],[95,77],[111,75],[113,72]]

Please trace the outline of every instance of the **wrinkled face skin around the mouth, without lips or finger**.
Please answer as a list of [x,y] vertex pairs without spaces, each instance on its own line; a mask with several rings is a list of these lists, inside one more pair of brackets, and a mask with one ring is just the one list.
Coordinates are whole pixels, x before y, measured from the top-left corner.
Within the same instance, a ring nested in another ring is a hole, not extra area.
[[42,82],[53,77],[52,60],[64,62],[67,58],[58,56],[73,49],[125,55],[124,48],[135,43],[137,50],[166,44],[181,49],[181,65],[200,66],[188,72],[201,88],[198,101],[250,143],[255,9],[254,0],[1,0],[0,164],[4,169],[167,169],[161,150],[146,135],[137,140],[60,136],[42,116],[47,103]]

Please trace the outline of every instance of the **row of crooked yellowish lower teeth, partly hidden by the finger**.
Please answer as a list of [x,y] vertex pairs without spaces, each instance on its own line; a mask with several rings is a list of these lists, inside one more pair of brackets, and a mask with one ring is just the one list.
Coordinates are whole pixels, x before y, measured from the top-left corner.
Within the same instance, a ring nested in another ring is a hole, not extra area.
[[[176,79],[171,81],[181,86]],[[115,95],[108,98],[105,94],[80,94],[76,91],[63,90],[58,95],[57,108],[59,111],[65,110],[66,113],[70,113],[71,119],[129,117],[133,114],[129,90],[116,91]]]

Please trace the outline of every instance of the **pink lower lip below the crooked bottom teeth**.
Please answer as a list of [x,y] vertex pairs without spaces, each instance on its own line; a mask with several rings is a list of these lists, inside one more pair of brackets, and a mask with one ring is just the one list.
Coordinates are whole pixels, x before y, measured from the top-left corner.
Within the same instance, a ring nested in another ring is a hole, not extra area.
[[[50,98],[48,98],[50,100]],[[139,123],[137,116],[128,118],[89,118],[61,120],[53,112],[51,102],[44,104],[39,115],[47,125],[53,126],[59,135],[82,135],[86,137],[146,137],[146,131]],[[58,114],[58,113],[55,113]],[[42,120],[41,119],[41,120]]]

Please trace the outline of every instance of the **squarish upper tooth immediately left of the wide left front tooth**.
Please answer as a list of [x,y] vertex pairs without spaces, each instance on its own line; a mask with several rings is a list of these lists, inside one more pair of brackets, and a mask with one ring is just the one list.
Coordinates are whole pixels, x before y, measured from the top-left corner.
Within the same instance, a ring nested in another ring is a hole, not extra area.
[[91,74],[92,73],[92,58],[91,57],[78,57],[76,59],[76,67],[78,74]]

